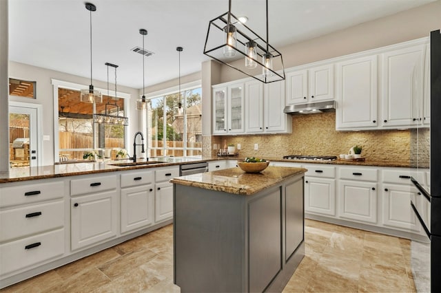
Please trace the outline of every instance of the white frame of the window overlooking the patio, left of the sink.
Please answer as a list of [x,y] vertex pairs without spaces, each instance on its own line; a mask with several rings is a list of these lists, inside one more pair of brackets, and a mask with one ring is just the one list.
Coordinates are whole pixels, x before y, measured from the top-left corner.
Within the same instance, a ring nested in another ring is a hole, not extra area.
[[[63,81],[63,80],[57,80],[54,78],[51,78],[51,83],[52,83],[52,90],[53,90],[53,96],[54,96],[54,162],[59,162],[59,155],[60,155],[60,149],[59,149],[59,125],[58,125],[58,108],[59,108],[59,104],[58,104],[58,89],[61,87],[63,89],[73,89],[75,91],[80,91],[81,89],[85,89],[88,88],[88,85],[82,85],[79,83],[70,83],[68,81]],[[107,89],[102,89],[99,87],[95,87],[95,89],[101,91],[101,93],[107,92]],[[119,91],[118,93],[118,98],[123,98],[124,99],[124,115],[125,117],[130,117],[130,98],[131,95],[127,94],[127,93],[123,93],[121,91]],[[103,102],[105,102],[103,100]],[[95,104],[93,106],[93,111],[95,112]],[[98,148],[98,137],[96,135],[96,127],[94,127],[93,122],[92,122],[92,135],[94,137],[93,140],[93,149],[99,149]],[[124,144],[125,147],[127,148],[130,144],[129,144],[129,138],[127,133],[130,133],[130,123],[129,126],[125,127],[125,132],[124,132]],[[70,149],[69,149],[70,150]],[[74,149],[74,151],[81,151],[82,149]]]

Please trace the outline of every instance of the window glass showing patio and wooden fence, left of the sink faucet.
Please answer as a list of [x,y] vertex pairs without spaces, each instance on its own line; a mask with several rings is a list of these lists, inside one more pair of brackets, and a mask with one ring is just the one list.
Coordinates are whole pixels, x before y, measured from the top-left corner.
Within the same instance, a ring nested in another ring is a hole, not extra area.
[[[124,114],[124,99],[103,95],[103,103],[80,101],[80,91],[58,88],[59,160],[83,160],[85,151],[103,149],[105,158],[114,159],[119,149],[125,149],[123,125],[93,123],[93,113],[105,113],[106,102],[119,107]],[[107,113],[116,115],[117,107],[107,105]],[[96,141],[94,143],[94,139]],[[94,147],[95,146],[95,147]]]

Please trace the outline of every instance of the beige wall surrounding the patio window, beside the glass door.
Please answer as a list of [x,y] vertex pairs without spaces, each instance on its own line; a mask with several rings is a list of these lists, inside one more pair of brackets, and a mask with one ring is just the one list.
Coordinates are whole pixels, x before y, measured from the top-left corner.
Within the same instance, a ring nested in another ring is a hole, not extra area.
[[[1,1],[1,0],[0,0]],[[53,95],[53,87],[51,79],[63,80],[69,83],[78,83],[80,85],[84,85],[85,88],[88,88],[90,84],[90,78],[83,78],[81,76],[74,76],[71,74],[65,74],[63,72],[57,72],[50,69],[44,69],[41,67],[35,67],[31,65],[26,65],[23,63],[17,63],[14,61],[10,61],[10,78],[19,78],[23,80],[33,80],[37,82],[36,86],[36,99],[30,98],[22,98],[17,96],[11,96],[10,100],[15,100],[19,102],[29,102],[34,104],[43,105],[43,113],[42,113],[42,134],[50,135],[49,141],[42,141],[43,145],[43,165],[51,165],[54,164],[54,95]],[[94,87],[105,89],[107,88],[107,82],[101,82],[94,80]],[[8,87],[6,87],[7,89]],[[132,89],[130,87],[118,87],[119,92],[124,92],[127,94],[131,94],[132,98],[130,99],[130,116],[129,116],[129,126],[127,127],[127,135],[130,139],[132,135],[130,133],[135,133],[139,129],[139,119],[138,113],[135,110],[135,100],[139,94],[138,89]],[[5,131],[8,129],[8,123],[1,124],[1,131]]]

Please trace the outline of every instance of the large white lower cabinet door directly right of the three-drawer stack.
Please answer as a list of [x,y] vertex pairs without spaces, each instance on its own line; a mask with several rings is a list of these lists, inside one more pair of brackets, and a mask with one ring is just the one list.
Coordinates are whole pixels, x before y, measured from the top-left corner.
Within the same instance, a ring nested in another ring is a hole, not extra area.
[[116,191],[70,199],[72,250],[116,235],[119,215],[116,199]]

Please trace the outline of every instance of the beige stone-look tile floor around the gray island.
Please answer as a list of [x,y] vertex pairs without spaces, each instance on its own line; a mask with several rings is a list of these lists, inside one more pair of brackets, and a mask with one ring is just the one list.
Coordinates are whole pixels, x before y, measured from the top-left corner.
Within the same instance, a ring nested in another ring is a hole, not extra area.
[[[305,258],[283,292],[416,292],[409,240],[305,224]],[[172,237],[169,225],[1,292],[180,292]]]

